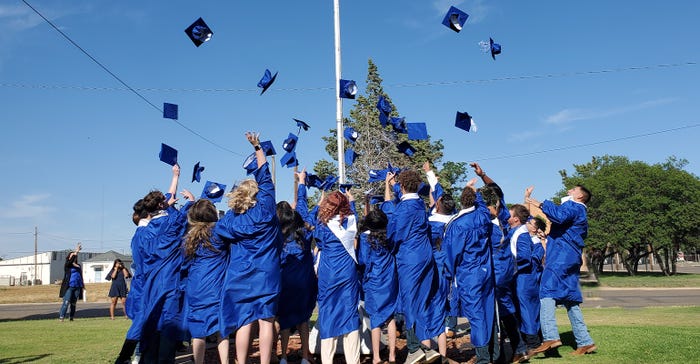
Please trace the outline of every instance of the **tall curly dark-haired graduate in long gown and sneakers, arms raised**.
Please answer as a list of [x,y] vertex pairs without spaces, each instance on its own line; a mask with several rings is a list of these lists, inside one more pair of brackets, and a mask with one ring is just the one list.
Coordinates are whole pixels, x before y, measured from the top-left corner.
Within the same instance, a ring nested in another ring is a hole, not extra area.
[[[394,178],[388,172],[385,180],[385,202],[382,210],[389,217],[387,238],[396,257],[399,276],[399,309],[404,314],[408,357],[406,363],[433,362],[440,354],[430,348],[430,339],[444,333],[444,310],[436,312],[440,285],[425,203],[418,196],[421,178],[414,170],[403,170]],[[394,185],[401,197],[394,203]]]

